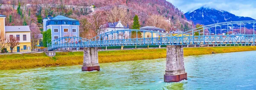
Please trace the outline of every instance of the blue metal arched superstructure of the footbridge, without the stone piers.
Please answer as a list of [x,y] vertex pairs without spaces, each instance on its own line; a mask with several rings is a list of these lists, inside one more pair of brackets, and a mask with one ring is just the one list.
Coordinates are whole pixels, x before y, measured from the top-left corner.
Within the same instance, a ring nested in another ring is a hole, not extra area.
[[[48,50],[100,46],[255,44],[255,23],[256,20],[215,23],[177,35],[150,30],[127,29],[101,33],[91,39],[62,37],[51,41],[48,44]],[[253,31],[248,32],[246,28],[253,28]]]

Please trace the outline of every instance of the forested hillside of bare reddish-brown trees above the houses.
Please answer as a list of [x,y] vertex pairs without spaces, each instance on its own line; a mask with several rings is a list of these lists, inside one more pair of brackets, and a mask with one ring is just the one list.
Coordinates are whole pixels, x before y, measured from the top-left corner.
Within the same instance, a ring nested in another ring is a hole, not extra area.
[[6,26],[31,25],[42,28],[47,15],[64,15],[80,21],[82,35],[94,33],[107,22],[133,23],[138,15],[141,26],[156,26],[167,31],[172,26],[189,30],[193,23],[166,0],[0,0],[0,14],[6,15]]

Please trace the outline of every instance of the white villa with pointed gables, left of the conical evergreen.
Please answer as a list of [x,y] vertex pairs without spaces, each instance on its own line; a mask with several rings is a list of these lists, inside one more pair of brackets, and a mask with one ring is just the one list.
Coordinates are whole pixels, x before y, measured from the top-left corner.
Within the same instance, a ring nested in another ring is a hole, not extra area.
[[[101,32],[102,33],[106,33],[106,32],[111,32],[111,31],[116,31],[116,30],[127,30],[129,29],[129,25],[127,24],[127,26],[124,26],[121,21],[118,22],[114,22],[114,23],[106,23],[104,25],[104,29]],[[124,38],[129,38],[129,32],[126,31],[124,33],[119,32],[118,35],[117,34],[113,34],[113,35],[108,35],[108,38],[104,38],[105,40],[112,40],[112,39],[124,39]]]

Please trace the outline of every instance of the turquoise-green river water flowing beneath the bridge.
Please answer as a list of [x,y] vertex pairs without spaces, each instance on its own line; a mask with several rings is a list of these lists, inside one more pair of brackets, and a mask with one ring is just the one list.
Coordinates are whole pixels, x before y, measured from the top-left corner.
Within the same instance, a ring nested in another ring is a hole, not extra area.
[[163,81],[165,58],[100,64],[100,71],[81,66],[0,70],[3,89],[79,90],[254,90],[256,51],[184,57],[188,80]]

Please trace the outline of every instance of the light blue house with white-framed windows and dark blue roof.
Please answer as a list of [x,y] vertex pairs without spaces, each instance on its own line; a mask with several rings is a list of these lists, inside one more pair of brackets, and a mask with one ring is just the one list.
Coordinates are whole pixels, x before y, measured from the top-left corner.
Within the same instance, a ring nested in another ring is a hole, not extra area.
[[44,18],[44,31],[51,29],[52,40],[61,37],[79,37],[79,20],[58,15]]

